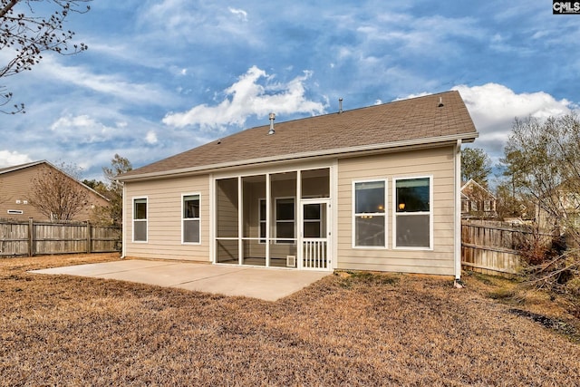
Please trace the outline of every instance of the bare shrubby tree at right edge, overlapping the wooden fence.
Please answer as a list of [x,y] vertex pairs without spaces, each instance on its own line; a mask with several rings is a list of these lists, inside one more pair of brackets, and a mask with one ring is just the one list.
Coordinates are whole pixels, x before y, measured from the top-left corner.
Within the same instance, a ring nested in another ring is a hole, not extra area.
[[580,276],[580,120],[574,114],[516,120],[505,152],[504,162],[517,174],[514,194],[533,202],[539,226],[554,233],[543,262],[529,268],[532,282],[567,291]]

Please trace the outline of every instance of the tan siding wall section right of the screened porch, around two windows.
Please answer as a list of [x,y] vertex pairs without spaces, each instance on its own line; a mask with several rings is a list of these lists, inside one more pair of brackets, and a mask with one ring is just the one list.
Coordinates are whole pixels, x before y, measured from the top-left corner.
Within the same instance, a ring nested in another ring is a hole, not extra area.
[[[454,274],[454,147],[338,161],[337,268]],[[394,179],[432,176],[432,250],[393,248]],[[353,247],[353,181],[386,179],[387,247]]]

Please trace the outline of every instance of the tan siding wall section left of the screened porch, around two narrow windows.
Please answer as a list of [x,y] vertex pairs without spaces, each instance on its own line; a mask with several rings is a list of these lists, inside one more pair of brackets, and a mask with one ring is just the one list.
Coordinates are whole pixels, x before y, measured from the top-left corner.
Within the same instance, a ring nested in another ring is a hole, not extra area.
[[[125,183],[125,255],[143,258],[210,261],[209,177]],[[182,244],[182,195],[200,195],[200,244]],[[132,242],[133,198],[147,198],[147,242]]]

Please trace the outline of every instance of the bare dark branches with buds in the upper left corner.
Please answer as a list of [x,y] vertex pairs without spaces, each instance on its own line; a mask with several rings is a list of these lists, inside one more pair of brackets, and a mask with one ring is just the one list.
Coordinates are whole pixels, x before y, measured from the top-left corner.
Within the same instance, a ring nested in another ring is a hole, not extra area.
[[[86,13],[92,0],[0,0],[0,50],[7,63],[0,63],[0,78],[32,70],[43,59],[43,52],[63,55],[81,53],[86,44],[69,44],[74,33],[64,29],[66,18]],[[3,55],[4,56],[4,55]],[[0,108],[12,100],[12,92],[0,86]],[[24,112],[24,103],[14,104],[7,113]]]

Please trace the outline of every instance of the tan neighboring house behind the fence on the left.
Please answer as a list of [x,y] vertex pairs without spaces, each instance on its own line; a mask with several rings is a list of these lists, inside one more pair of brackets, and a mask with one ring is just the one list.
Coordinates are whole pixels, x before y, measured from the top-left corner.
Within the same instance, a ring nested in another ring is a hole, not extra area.
[[81,181],[67,175],[50,162],[42,160],[0,169],[0,218],[54,220],[43,215],[29,203],[33,180],[49,170],[62,173],[86,191],[88,200],[84,208],[74,217],[74,220],[88,220],[91,218],[92,208],[109,205],[107,198],[82,184]]

